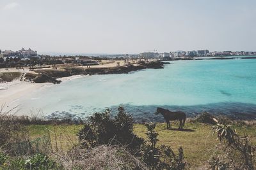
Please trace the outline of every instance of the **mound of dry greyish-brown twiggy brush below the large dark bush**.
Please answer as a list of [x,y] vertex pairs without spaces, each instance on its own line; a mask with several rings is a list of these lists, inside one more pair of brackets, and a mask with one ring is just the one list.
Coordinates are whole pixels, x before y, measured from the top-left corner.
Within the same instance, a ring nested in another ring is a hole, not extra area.
[[66,169],[148,169],[140,159],[117,146],[73,148],[67,154],[58,155],[58,160]]

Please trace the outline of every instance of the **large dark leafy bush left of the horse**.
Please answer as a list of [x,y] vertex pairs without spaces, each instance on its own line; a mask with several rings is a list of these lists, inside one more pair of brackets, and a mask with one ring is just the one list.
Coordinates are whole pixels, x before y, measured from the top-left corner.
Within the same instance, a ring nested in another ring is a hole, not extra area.
[[82,146],[92,148],[99,145],[127,146],[130,151],[138,152],[143,139],[133,133],[131,115],[124,108],[118,108],[118,114],[111,118],[111,111],[94,113],[77,134]]

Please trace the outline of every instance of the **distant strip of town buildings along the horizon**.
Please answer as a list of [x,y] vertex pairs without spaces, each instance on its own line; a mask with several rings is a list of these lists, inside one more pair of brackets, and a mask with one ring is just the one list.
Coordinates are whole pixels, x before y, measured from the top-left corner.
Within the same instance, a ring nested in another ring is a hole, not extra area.
[[67,56],[81,56],[81,57],[123,57],[123,58],[145,58],[145,59],[160,59],[160,58],[168,58],[168,57],[221,57],[221,56],[239,56],[239,55],[256,55],[256,52],[246,52],[246,51],[209,51],[205,50],[177,50],[174,52],[157,52],[154,50],[152,52],[140,52],[140,53],[75,53],[75,54],[43,54],[38,53],[37,50],[31,50],[28,48],[21,48],[21,50],[1,50],[0,49],[0,58],[2,61],[6,59],[29,59],[31,57],[42,57],[42,56],[52,56],[52,57],[67,57]]

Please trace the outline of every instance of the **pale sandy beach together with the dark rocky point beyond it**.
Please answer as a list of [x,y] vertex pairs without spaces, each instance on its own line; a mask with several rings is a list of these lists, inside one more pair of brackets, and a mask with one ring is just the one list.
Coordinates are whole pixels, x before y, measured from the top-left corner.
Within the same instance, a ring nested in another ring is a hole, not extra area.
[[[141,62],[141,64],[129,65],[129,66],[115,66],[114,62],[109,64],[92,66],[90,68],[84,67],[66,67],[65,69],[38,69],[35,71],[21,71],[22,76],[15,78],[10,82],[0,82],[0,107],[2,112],[8,112],[12,110],[12,113],[19,111],[19,101],[22,97],[40,90],[44,87],[51,87],[54,83],[66,82],[77,78],[83,78],[93,74],[122,74],[129,73],[131,71],[139,71],[142,69],[163,68],[164,62],[150,61]],[[1,70],[0,70],[1,71]],[[6,73],[12,73],[15,69],[9,69]],[[16,71],[17,72],[17,71]],[[1,73],[1,72],[0,72]],[[3,72],[2,72],[3,73]],[[29,76],[29,77],[26,77]],[[34,77],[34,78],[31,78]],[[20,81],[23,80],[23,81]],[[38,80],[38,81],[36,81]],[[19,115],[19,114],[18,114]]]

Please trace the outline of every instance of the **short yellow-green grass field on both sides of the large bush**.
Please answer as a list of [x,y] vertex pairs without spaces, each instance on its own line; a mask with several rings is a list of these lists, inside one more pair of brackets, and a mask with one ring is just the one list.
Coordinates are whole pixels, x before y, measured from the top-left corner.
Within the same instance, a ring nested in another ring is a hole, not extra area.
[[[60,150],[68,150],[77,141],[77,132],[83,125],[28,125],[29,136],[31,139],[42,138],[42,136],[51,136],[52,147]],[[177,127],[177,123],[173,124],[173,128]],[[250,135],[253,143],[256,143],[256,126],[234,125],[239,134],[246,132]],[[134,132],[138,136],[145,138],[147,128],[143,124],[135,124]],[[184,156],[190,167],[200,167],[206,164],[212,153],[215,152],[214,147],[218,145],[216,135],[212,136],[211,125],[202,123],[191,123],[185,125],[184,131],[177,129],[166,129],[166,124],[157,124],[156,132],[159,133],[159,142],[157,145],[168,145],[175,152],[182,146]],[[57,145],[56,145],[57,141]]]

